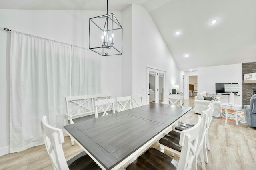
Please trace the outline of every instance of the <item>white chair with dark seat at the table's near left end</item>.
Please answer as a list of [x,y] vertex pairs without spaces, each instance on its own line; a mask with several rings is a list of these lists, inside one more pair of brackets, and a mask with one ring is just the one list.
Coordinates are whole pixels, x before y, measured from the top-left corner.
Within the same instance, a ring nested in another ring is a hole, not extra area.
[[74,169],[95,169],[100,167],[90,158],[86,152],[77,154],[66,162],[63,152],[62,143],[64,136],[62,129],[52,127],[48,124],[47,117],[43,116],[41,121],[41,129],[44,138],[44,144],[54,170],[74,170]]

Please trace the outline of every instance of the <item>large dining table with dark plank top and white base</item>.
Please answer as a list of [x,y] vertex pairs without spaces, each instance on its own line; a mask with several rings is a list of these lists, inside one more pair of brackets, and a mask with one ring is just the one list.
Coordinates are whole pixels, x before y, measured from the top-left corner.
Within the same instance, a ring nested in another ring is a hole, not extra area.
[[192,107],[151,103],[64,126],[102,169],[122,169],[172,130]]

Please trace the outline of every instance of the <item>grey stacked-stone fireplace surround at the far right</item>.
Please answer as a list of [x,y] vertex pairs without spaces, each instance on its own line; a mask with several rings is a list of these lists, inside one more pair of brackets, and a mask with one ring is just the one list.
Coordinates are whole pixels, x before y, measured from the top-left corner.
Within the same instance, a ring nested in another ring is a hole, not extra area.
[[256,72],[256,62],[242,63],[242,80],[243,80],[243,103],[244,105],[250,105],[250,99],[256,91],[256,83],[244,83],[244,74]]

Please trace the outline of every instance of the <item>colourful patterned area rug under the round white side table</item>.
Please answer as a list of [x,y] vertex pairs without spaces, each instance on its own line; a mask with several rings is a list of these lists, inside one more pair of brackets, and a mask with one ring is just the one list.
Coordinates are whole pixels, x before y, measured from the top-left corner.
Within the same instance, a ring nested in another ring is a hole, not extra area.
[[[225,121],[226,120],[225,109],[221,109],[221,110],[222,110],[222,117],[219,117],[219,119],[222,119]],[[228,109],[228,121],[233,121],[233,122],[236,121],[235,113],[236,113],[236,111]],[[218,118],[218,117],[216,117],[216,118]],[[245,121],[243,109],[237,112],[237,121],[238,121],[238,123],[247,123]]]

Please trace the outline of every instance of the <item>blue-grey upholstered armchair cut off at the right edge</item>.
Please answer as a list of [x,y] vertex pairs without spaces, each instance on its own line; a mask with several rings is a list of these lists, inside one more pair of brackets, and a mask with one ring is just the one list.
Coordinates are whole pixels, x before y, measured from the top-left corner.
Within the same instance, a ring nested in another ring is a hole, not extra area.
[[250,127],[256,127],[256,94],[252,95],[250,105],[244,105],[244,117]]

